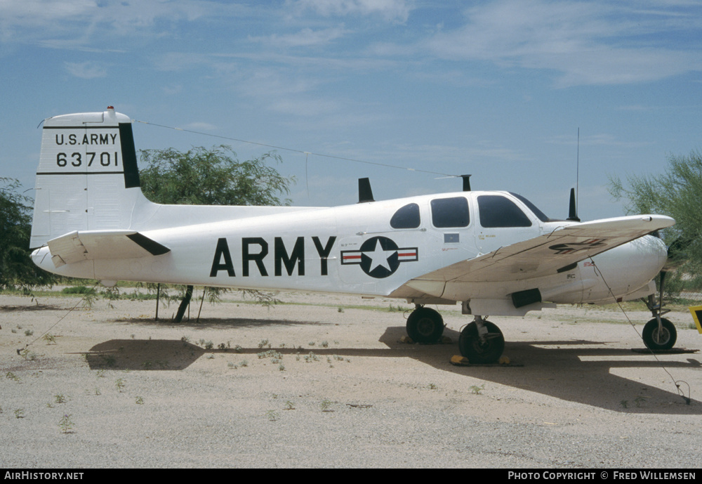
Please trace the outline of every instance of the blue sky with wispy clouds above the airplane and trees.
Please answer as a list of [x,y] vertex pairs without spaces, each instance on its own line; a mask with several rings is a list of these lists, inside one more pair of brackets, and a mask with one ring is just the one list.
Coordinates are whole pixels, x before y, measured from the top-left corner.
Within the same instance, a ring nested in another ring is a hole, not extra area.
[[[702,148],[702,3],[0,0],[0,176],[32,188],[42,119],[114,105],[137,149],[260,145],[293,204],[474,189],[618,216],[608,176]],[[402,166],[409,171],[376,164]],[[32,191],[27,192],[32,195]]]

